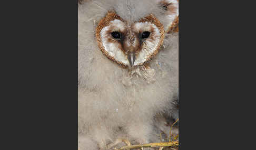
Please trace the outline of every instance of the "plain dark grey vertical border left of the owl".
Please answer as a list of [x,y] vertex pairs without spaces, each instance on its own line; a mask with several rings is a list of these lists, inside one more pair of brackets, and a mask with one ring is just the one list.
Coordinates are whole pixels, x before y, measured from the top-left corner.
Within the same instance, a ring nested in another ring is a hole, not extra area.
[[1,6],[2,146],[77,149],[77,1]]

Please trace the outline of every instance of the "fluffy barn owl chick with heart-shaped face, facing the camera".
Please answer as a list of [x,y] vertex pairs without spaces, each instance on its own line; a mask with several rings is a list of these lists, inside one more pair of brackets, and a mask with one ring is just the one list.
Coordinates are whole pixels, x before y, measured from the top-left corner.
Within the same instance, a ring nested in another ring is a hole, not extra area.
[[154,118],[173,112],[178,95],[178,34],[170,33],[178,8],[177,0],[78,4],[80,150],[157,142]]

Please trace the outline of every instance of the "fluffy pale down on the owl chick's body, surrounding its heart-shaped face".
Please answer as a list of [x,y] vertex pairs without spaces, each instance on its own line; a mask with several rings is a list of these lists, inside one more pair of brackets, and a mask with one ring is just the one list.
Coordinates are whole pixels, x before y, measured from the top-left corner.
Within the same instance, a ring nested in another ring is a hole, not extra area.
[[[150,13],[164,16],[156,1],[89,1],[78,7],[78,146],[97,149],[116,138],[145,143],[155,139],[153,116],[171,109],[178,93],[178,35],[165,35],[149,69],[129,70],[103,55],[95,28],[107,10],[137,21]],[[154,141],[155,142],[155,141]]]

